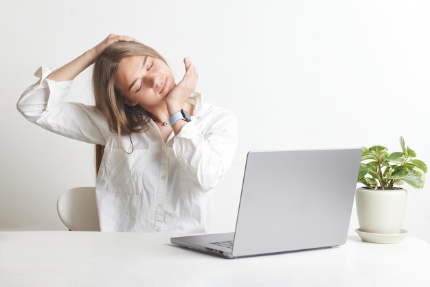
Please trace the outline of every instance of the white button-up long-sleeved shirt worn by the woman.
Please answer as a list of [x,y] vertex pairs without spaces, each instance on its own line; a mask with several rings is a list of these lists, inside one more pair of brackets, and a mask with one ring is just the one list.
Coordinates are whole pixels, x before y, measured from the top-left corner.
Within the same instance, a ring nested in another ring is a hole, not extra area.
[[94,106],[64,102],[72,81],[46,77],[28,87],[17,104],[30,122],[59,135],[105,146],[95,184],[102,231],[204,233],[210,222],[211,190],[223,178],[238,144],[238,122],[224,108],[203,104],[194,93],[194,114],[165,143],[155,122],[131,141],[109,130]]

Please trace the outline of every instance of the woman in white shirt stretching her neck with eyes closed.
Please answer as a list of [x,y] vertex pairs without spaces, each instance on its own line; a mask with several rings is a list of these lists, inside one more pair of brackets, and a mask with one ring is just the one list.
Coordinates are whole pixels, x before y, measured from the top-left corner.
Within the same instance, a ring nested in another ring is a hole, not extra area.
[[[72,80],[93,67],[95,106],[64,102]],[[102,231],[207,231],[211,190],[238,143],[236,117],[203,103],[197,73],[184,59],[175,83],[154,49],[111,34],[40,78],[17,108],[54,133],[104,146],[95,184]]]

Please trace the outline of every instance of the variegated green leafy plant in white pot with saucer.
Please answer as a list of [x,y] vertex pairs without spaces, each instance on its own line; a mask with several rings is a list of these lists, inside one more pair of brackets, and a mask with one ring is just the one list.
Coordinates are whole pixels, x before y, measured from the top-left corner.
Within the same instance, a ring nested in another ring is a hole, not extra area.
[[400,242],[407,231],[401,229],[405,216],[406,183],[414,189],[424,187],[427,165],[416,159],[416,152],[405,146],[400,137],[400,152],[389,152],[385,146],[363,147],[356,192],[356,229],[363,241]]

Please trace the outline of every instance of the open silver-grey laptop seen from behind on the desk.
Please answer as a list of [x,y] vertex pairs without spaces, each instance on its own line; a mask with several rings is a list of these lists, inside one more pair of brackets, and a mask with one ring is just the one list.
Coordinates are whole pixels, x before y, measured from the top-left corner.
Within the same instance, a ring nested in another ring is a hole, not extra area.
[[227,258],[345,244],[361,153],[361,148],[250,151],[235,231],[170,242]]

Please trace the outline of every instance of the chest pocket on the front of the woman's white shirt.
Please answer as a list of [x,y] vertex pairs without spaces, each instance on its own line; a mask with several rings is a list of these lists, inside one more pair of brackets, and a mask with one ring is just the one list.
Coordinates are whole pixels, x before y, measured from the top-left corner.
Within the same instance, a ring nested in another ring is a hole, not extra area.
[[109,192],[142,194],[144,168],[148,150],[134,150],[131,154],[121,149],[105,149],[104,170]]

